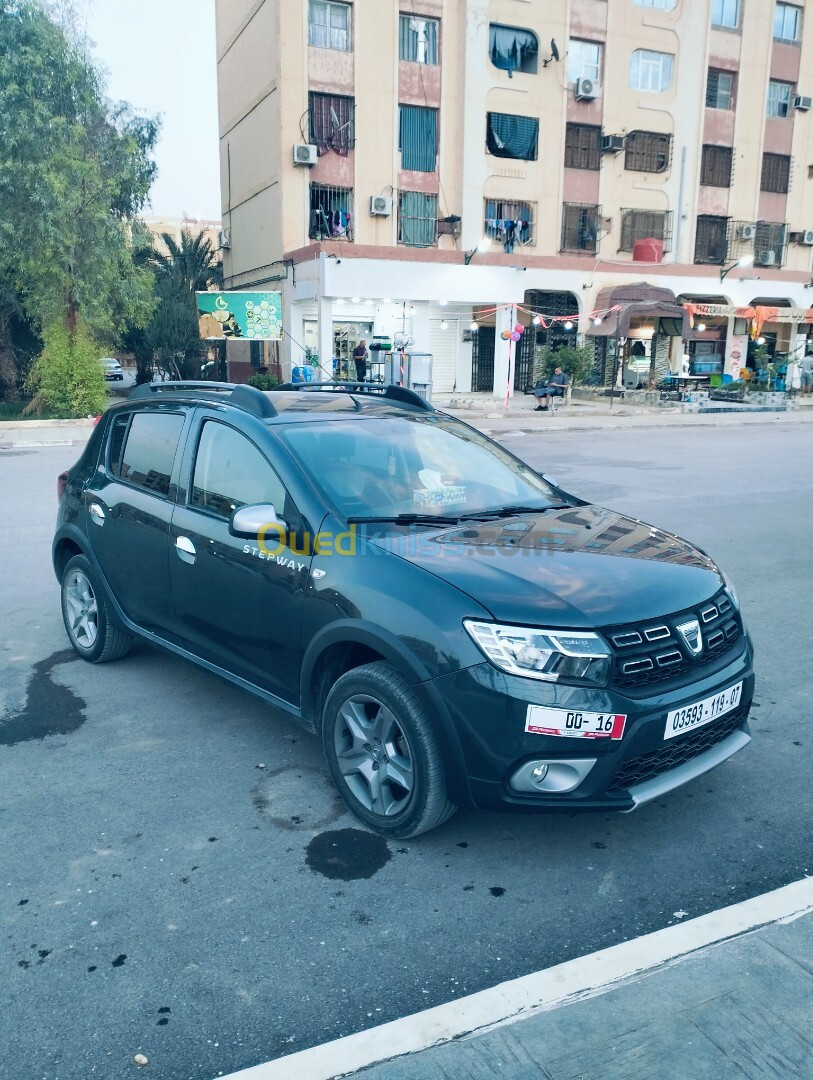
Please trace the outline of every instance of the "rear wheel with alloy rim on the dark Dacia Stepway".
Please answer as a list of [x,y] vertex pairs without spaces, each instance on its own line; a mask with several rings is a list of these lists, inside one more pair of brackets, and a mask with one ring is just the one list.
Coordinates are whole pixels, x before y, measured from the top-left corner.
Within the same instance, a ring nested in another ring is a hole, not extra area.
[[68,639],[82,660],[104,664],[130,652],[133,635],[113,622],[105,590],[85,555],[73,555],[65,564],[62,609]]

